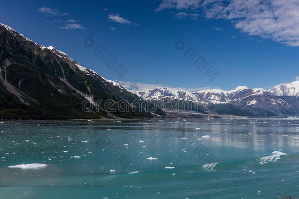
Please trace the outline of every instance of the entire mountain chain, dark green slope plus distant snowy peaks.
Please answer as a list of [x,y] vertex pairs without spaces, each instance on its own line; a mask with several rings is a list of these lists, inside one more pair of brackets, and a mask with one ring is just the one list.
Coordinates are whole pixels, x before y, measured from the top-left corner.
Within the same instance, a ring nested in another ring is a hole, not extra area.
[[132,91],[0,24],[0,119],[151,118],[176,117],[178,112],[200,117],[297,115],[299,81],[269,90]]

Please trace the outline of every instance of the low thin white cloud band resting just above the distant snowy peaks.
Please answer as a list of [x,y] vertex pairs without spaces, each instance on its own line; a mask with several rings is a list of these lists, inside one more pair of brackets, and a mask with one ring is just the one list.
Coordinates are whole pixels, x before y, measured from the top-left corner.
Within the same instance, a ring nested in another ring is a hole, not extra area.
[[197,87],[197,88],[190,88],[190,87],[174,87],[169,85],[159,85],[159,84],[145,84],[140,82],[127,82],[127,81],[121,81],[119,82],[123,87],[125,87],[128,90],[152,90],[157,87],[163,87],[163,88],[172,88],[172,89],[181,89],[181,90],[188,90],[188,91],[199,91],[203,89],[218,89],[218,87]]

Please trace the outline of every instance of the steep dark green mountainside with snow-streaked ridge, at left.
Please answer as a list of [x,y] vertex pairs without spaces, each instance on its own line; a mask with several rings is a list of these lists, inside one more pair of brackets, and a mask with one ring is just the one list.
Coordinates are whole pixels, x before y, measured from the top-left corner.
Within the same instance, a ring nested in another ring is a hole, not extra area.
[[[110,104],[104,104],[107,100]],[[139,101],[67,54],[0,24],[0,119],[152,117],[143,108],[134,110],[132,103]]]

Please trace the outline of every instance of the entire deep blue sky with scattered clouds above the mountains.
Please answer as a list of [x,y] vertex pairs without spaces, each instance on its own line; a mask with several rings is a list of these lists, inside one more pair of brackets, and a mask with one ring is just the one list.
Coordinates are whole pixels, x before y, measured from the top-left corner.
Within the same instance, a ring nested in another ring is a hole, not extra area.
[[0,23],[139,90],[299,79],[298,0],[1,0]]

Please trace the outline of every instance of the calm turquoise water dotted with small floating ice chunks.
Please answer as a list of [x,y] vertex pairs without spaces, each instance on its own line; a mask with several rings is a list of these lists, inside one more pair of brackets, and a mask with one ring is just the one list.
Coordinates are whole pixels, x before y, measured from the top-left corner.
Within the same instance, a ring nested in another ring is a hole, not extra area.
[[299,120],[0,124],[0,199],[287,197],[299,197]]

